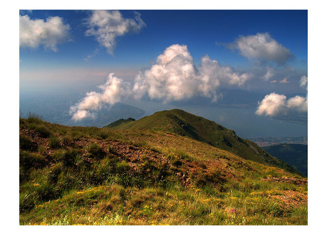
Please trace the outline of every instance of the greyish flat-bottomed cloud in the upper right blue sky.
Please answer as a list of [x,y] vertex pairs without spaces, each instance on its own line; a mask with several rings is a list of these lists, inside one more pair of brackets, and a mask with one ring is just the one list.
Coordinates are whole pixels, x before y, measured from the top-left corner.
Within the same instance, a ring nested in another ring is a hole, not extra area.
[[278,43],[269,33],[240,36],[229,47],[239,50],[248,59],[274,61],[278,64],[284,64],[294,57],[289,49]]

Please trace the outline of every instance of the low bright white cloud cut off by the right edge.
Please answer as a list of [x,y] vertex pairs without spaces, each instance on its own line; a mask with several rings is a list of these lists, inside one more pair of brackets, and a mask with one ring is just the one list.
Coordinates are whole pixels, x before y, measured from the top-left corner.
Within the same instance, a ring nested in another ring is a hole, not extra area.
[[257,115],[278,116],[293,112],[307,112],[307,97],[296,95],[287,100],[283,94],[270,93],[258,103]]

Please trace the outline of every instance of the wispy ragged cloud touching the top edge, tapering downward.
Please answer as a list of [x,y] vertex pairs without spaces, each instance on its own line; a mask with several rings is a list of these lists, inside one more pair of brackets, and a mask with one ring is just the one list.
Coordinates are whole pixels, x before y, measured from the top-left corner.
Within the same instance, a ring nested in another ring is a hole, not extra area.
[[132,31],[138,32],[145,27],[141,15],[135,12],[134,19],[125,19],[119,11],[93,11],[87,19],[87,36],[94,36],[100,45],[113,54],[116,38]]

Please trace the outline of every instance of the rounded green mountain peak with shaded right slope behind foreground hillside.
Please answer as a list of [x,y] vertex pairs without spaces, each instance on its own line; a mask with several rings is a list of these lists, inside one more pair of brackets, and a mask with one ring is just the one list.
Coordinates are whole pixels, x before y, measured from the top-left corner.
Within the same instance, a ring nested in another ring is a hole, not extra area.
[[253,160],[270,166],[280,167],[290,172],[299,173],[284,161],[263,151],[252,141],[239,138],[233,130],[226,129],[213,121],[181,109],[155,112],[137,121],[117,121],[106,127],[115,130],[161,131],[186,136],[237,154],[247,160]]

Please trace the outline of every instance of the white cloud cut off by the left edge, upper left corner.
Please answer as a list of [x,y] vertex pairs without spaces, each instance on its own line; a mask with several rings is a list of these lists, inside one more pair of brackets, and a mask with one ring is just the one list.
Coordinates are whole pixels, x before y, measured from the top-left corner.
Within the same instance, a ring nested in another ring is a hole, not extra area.
[[63,23],[60,17],[49,17],[32,20],[28,15],[19,16],[20,47],[37,48],[43,45],[45,49],[58,51],[57,45],[69,39],[70,27]]

